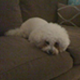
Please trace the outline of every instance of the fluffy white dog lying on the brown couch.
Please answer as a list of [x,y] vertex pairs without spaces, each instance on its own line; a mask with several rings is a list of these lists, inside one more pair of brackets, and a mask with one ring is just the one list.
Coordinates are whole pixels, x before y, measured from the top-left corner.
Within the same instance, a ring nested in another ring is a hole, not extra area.
[[28,19],[20,28],[9,30],[5,35],[28,38],[48,54],[63,52],[70,44],[68,33],[63,27],[38,17]]

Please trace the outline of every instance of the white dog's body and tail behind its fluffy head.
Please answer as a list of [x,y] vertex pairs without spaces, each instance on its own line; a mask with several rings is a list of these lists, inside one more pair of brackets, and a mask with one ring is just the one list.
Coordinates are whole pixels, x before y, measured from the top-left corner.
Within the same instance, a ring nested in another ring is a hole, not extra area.
[[48,24],[47,21],[35,17],[35,18],[30,18],[27,21],[25,21],[20,28],[16,28],[16,29],[12,29],[9,30],[5,33],[5,35],[7,36],[20,36],[20,37],[24,37],[24,38],[28,38],[30,33],[41,26],[44,26],[45,24]]

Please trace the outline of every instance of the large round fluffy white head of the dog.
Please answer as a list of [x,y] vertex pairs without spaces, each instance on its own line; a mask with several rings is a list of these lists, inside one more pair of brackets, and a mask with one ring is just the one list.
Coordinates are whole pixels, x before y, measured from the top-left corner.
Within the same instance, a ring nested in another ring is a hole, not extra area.
[[66,30],[57,24],[47,24],[35,29],[30,34],[29,40],[48,54],[65,51],[70,44]]

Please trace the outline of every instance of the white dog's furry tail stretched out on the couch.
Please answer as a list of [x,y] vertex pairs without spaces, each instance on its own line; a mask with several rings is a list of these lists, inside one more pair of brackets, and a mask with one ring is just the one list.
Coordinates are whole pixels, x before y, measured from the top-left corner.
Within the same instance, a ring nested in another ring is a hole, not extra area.
[[22,37],[22,32],[20,31],[20,28],[11,29],[5,33],[5,36],[20,36],[20,37]]

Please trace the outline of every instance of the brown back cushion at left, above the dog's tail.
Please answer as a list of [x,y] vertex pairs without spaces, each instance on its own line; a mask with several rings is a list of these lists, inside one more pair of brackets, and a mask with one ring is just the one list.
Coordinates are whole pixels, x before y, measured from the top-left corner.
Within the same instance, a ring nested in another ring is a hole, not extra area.
[[21,23],[19,0],[0,0],[0,35]]

